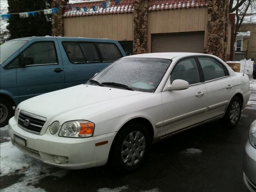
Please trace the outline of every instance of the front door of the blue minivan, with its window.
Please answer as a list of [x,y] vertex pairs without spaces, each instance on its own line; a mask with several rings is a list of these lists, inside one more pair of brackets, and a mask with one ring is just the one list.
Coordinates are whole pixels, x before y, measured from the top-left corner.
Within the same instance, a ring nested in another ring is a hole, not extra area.
[[20,102],[39,94],[64,88],[64,71],[55,40],[34,42],[21,54],[25,67],[17,68]]

